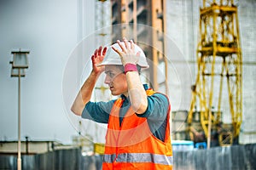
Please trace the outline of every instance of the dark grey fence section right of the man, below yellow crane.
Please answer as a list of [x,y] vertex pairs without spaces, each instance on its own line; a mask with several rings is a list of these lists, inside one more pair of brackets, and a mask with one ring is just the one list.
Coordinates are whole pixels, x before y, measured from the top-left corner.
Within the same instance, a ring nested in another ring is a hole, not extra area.
[[256,170],[256,144],[177,151],[175,170]]

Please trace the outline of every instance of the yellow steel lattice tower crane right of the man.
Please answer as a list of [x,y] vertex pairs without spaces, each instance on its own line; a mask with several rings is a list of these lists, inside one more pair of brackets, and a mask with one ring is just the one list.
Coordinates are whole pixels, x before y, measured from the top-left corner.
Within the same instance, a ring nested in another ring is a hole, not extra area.
[[209,148],[215,132],[220,145],[230,145],[240,133],[242,116],[242,59],[234,1],[203,0],[199,27],[189,135],[195,139],[195,132],[201,131]]

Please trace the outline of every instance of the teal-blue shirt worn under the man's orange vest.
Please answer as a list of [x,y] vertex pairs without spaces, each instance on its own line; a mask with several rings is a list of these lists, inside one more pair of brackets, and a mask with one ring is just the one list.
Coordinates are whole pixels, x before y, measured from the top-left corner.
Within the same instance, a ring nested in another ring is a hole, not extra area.
[[[148,89],[147,85],[144,85]],[[123,117],[128,109],[131,107],[130,99],[125,95],[121,95],[124,103],[119,111],[120,125]],[[82,118],[89,119],[95,122],[108,123],[108,117],[116,99],[108,102],[88,102],[82,113]],[[162,141],[165,139],[166,134],[166,116],[169,107],[168,99],[164,94],[153,94],[148,96],[148,108],[143,114],[137,114],[139,117],[146,117],[148,119],[148,126],[154,136]]]

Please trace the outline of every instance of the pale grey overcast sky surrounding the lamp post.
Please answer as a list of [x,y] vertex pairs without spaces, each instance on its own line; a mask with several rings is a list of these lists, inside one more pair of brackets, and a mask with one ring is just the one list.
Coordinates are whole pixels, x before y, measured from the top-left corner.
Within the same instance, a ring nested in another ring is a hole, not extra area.
[[28,50],[21,78],[21,140],[70,143],[77,132],[62,96],[62,77],[77,40],[73,0],[0,1],[0,140],[18,139],[18,78],[10,77],[11,51]]

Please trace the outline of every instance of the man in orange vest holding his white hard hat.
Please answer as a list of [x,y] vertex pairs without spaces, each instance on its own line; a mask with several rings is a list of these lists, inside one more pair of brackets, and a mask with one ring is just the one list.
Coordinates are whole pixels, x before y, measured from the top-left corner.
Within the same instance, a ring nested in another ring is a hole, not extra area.
[[[140,80],[148,68],[143,50],[123,39],[98,48],[91,57],[93,69],[73,102],[72,111],[82,118],[108,123],[102,169],[172,169],[169,99]],[[119,99],[91,102],[97,78]]]

